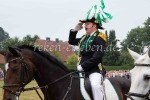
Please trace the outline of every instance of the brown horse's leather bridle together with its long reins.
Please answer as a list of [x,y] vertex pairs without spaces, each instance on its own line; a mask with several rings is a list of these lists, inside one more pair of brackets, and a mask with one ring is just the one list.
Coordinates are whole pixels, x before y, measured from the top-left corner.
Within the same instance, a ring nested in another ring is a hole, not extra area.
[[[64,78],[70,76],[70,83],[69,83],[69,86],[68,86],[68,90],[66,91],[66,93],[65,93],[65,95],[64,95],[64,97],[63,97],[62,100],[65,100],[65,99],[66,99],[66,97],[67,97],[67,95],[68,95],[68,93],[69,93],[69,91],[71,90],[71,87],[72,87],[72,81],[73,81],[73,78],[74,78],[74,77],[73,77],[73,74],[74,74],[74,73],[77,73],[78,71],[70,72],[70,73],[68,73],[68,74],[66,74],[66,75],[64,75],[64,76],[62,76],[62,77],[60,77],[60,78],[54,80],[53,82],[51,82],[51,83],[49,83],[49,84],[47,84],[47,85],[45,85],[45,86],[42,86],[42,87],[24,88],[24,86],[26,85],[26,83],[24,82],[25,74],[29,77],[29,75],[31,74],[31,71],[29,70],[29,65],[24,62],[24,57],[17,57],[17,58],[14,58],[14,59],[8,61],[8,63],[13,62],[13,61],[16,61],[16,60],[19,60],[20,63],[21,63],[21,77],[20,77],[21,83],[18,83],[18,84],[5,84],[5,83],[4,83],[4,85],[3,85],[3,89],[4,89],[4,90],[10,92],[11,94],[13,94],[13,95],[15,95],[15,96],[17,96],[17,97],[18,97],[22,92],[24,92],[24,91],[35,90],[36,93],[38,94],[39,98],[40,98],[41,100],[43,100],[42,97],[40,96],[39,92],[37,91],[37,89],[42,89],[42,88],[47,89],[47,88],[49,87],[49,85],[52,85],[52,84],[54,84],[54,83],[56,83],[56,82],[58,82],[58,81],[60,81],[60,80],[62,80],[62,79],[64,79]],[[5,80],[5,78],[4,78],[4,80]],[[11,87],[19,87],[19,91],[13,91],[13,90],[9,89],[9,88],[11,88]]]

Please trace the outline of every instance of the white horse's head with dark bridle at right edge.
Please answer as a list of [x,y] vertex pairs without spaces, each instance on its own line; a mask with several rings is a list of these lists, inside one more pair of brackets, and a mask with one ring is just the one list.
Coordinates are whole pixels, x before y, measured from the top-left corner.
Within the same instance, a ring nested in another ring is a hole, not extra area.
[[128,100],[150,100],[150,48],[144,55],[139,55],[128,49],[135,61],[135,67],[130,71],[131,87]]

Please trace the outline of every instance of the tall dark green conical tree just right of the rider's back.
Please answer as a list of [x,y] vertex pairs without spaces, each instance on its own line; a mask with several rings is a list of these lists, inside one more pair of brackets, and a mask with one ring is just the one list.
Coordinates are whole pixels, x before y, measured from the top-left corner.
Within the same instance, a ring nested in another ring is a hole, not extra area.
[[108,37],[107,49],[103,59],[104,65],[116,66],[119,65],[119,48],[117,47],[117,42],[115,31],[111,30]]

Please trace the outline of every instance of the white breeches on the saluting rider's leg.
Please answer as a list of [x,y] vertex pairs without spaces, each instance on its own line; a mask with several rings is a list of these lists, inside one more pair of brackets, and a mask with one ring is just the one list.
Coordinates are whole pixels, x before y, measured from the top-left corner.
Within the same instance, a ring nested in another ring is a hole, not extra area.
[[92,73],[89,75],[92,86],[94,100],[103,100],[103,87],[101,86],[102,75],[100,73]]

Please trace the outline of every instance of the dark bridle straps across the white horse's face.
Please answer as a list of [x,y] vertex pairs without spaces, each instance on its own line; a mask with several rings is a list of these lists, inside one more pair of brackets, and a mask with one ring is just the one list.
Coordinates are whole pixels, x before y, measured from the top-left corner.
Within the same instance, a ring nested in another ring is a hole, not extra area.
[[[134,65],[135,65],[135,66],[146,66],[146,67],[150,67],[150,64],[138,64],[138,63],[135,63]],[[149,95],[150,95],[150,89],[149,89],[149,91],[148,91],[146,94],[133,93],[133,92],[128,92],[128,93],[126,94],[126,96],[127,96],[128,98],[130,98],[131,100],[134,100],[134,99],[132,98],[132,96],[139,97],[139,98],[143,98],[144,100],[150,100]]]

